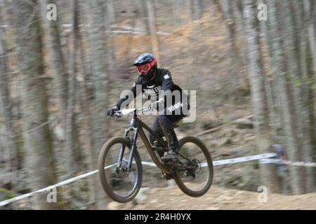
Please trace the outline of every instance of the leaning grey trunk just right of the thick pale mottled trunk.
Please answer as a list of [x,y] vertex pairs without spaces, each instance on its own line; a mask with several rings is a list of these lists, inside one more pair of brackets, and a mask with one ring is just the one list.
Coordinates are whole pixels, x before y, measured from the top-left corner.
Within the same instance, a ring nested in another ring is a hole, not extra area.
[[[270,29],[269,36],[271,38],[271,51],[272,51],[272,68],[274,75],[274,83],[277,91],[276,97],[279,97],[279,105],[282,112],[283,129],[286,139],[286,148],[289,159],[298,161],[300,159],[300,152],[298,148],[297,134],[295,132],[295,125],[293,120],[295,119],[293,96],[288,91],[288,78],[286,61],[284,57],[284,46],[282,42],[282,36],[279,31],[282,30],[279,21],[279,2],[277,0],[270,0],[269,3],[269,20]],[[291,186],[294,194],[304,193],[303,176],[297,167],[290,167],[291,173]]]

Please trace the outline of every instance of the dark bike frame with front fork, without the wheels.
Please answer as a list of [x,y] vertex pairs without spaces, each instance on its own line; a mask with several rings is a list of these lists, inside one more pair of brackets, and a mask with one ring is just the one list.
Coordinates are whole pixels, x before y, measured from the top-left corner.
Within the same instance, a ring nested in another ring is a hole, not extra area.
[[[159,169],[162,169],[162,172],[164,172],[165,174],[171,174],[172,173],[171,169],[169,167],[166,167],[166,165],[164,165],[162,162],[160,162],[160,160],[157,158],[157,155],[154,153],[154,149],[152,148],[150,141],[147,139],[147,136],[146,136],[143,129],[147,130],[148,132],[150,132],[150,134],[154,135],[156,137],[157,141],[159,141],[159,144],[161,144],[164,147],[167,147],[164,139],[162,139],[162,137],[155,135],[154,132],[152,131],[152,129],[150,127],[148,127],[145,123],[143,123],[142,120],[140,120],[138,118],[137,111],[135,110],[133,113],[133,118],[131,119],[130,126],[124,132],[124,137],[128,137],[129,133],[131,131],[134,132],[133,138],[131,139],[131,151],[129,153],[129,161],[128,161],[127,169],[131,169],[131,164],[133,162],[133,152],[135,150],[137,150],[136,141],[137,141],[138,134],[139,134],[140,139],[142,139],[142,141],[143,141],[148,153],[150,154],[150,157],[152,158],[152,161],[154,162],[154,164],[157,165],[157,167]],[[125,146],[121,146],[121,151],[119,152],[119,160],[117,162],[117,169],[119,169],[119,167],[121,165],[124,151],[125,151]]]

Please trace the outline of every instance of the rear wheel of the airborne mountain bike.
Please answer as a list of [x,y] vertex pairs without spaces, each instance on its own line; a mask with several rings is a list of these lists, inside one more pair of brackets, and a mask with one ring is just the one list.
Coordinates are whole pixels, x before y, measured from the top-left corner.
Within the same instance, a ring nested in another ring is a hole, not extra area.
[[199,197],[211,187],[213,161],[203,142],[195,137],[184,137],[179,141],[180,166],[176,166],[174,179],[186,195]]

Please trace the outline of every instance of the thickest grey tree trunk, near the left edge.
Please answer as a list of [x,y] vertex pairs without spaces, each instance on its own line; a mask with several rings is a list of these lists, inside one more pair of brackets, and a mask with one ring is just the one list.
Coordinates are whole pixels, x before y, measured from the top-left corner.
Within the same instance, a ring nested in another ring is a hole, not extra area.
[[[19,69],[23,78],[22,129],[25,141],[26,167],[30,188],[39,190],[56,183],[51,131],[48,124],[48,97],[44,83],[44,62],[38,11],[38,1],[19,1],[18,36],[20,43]],[[35,12],[35,13],[34,13]],[[32,17],[29,17],[32,15]],[[48,203],[46,194],[34,195],[35,209],[56,209]]]

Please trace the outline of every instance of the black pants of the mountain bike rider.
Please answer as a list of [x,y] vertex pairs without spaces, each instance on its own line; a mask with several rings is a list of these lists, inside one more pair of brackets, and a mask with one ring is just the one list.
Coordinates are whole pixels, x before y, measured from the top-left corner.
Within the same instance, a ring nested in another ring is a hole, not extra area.
[[[152,130],[154,131],[154,134],[161,137],[166,137],[169,149],[171,150],[175,150],[180,147],[176,132],[174,132],[173,123],[177,123],[183,117],[183,115],[159,115],[152,124]],[[150,139],[152,141],[153,136],[150,136]]]

